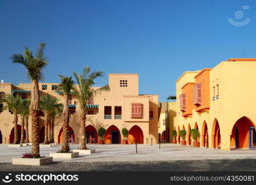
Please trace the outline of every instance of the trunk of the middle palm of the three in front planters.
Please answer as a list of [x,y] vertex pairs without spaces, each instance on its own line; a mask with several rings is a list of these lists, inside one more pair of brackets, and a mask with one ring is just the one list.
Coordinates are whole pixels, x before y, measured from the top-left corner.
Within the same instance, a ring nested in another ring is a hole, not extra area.
[[68,111],[68,94],[64,94],[64,109],[62,110],[63,120],[63,134],[62,134],[62,152],[69,152],[68,146],[68,123],[69,123],[69,111]]

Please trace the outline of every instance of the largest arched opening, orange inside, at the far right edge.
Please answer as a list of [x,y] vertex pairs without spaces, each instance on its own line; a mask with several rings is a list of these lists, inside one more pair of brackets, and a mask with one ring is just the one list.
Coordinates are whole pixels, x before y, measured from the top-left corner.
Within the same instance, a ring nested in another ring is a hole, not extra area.
[[231,134],[231,148],[256,148],[256,132],[252,121],[242,117],[236,121]]

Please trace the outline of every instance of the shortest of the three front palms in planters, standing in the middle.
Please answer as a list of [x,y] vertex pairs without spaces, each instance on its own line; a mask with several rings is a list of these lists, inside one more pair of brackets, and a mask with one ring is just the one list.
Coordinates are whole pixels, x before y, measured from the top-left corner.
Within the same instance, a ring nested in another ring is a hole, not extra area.
[[69,152],[68,146],[68,124],[69,124],[69,116],[70,112],[68,110],[68,96],[70,96],[70,92],[75,92],[75,82],[72,80],[72,76],[60,76],[60,84],[57,86],[58,91],[63,92],[64,96],[64,106],[62,110],[62,120],[63,120],[63,139],[62,139],[62,153]]

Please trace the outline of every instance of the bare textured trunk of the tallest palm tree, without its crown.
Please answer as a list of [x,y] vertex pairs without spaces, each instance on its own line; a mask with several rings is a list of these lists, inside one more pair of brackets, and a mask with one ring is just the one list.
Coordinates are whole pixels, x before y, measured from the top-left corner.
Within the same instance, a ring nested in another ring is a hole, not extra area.
[[31,80],[31,104],[30,104],[30,111],[31,111],[31,125],[32,125],[32,154],[39,155],[39,86],[38,80]]

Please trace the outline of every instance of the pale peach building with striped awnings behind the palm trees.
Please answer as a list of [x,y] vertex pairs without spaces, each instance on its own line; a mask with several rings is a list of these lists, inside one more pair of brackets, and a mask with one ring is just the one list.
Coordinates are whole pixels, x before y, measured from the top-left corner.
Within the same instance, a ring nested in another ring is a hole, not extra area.
[[[89,102],[86,115],[86,142],[97,143],[97,130],[105,128],[105,143],[121,143],[122,128],[127,128],[128,143],[138,139],[138,143],[146,144],[151,138],[157,142],[158,122],[158,96],[138,94],[138,74],[109,74],[110,91],[102,92],[93,97]],[[57,83],[39,83],[40,96],[51,94],[64,102],[62,92],[56,91]],[[99,88],[99,87],[93,87]],[[6,94],[20,94],[23,98],[29,98],[31,86],[29,83],[20,83],[18,86],[10,83],[0,84],[0,98]],[[70,128],[69,142],[78,142],[80,128],[79,105],[74,95],[69,100]],[[14,140],[13,115],[8,110],[0,113],[1,143],[9,144]],[[31,119],[30,119],[31,121]],[[21,120],[19,118],[19,124]],[[31,123],[29,123],[31,125]],[[39,118],[40,141],[44,140],[44,115]],[[19,138],[20,138],[20,128]],[[31,126],[29,126],[29,138],[31,140]],[[60,117],[55,120],[55,142],[62,142],[62,121]]]

